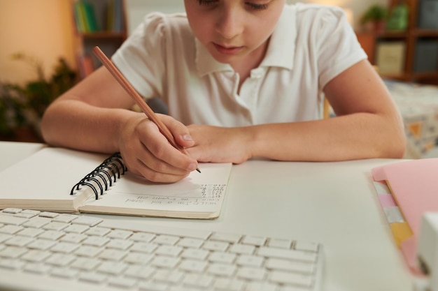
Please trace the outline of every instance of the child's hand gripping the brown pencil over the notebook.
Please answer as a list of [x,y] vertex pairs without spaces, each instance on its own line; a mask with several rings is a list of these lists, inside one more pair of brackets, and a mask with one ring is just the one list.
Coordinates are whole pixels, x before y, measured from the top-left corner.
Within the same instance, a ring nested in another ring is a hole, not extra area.
[[[175,119],[158,114],[176,142],[191,147],[188,128]],[[133,114],[120,127],[119,148],[129,171],[155,182],[176,182],[196,170],[195,158],[175,149],[157,126],[143,113]]]

